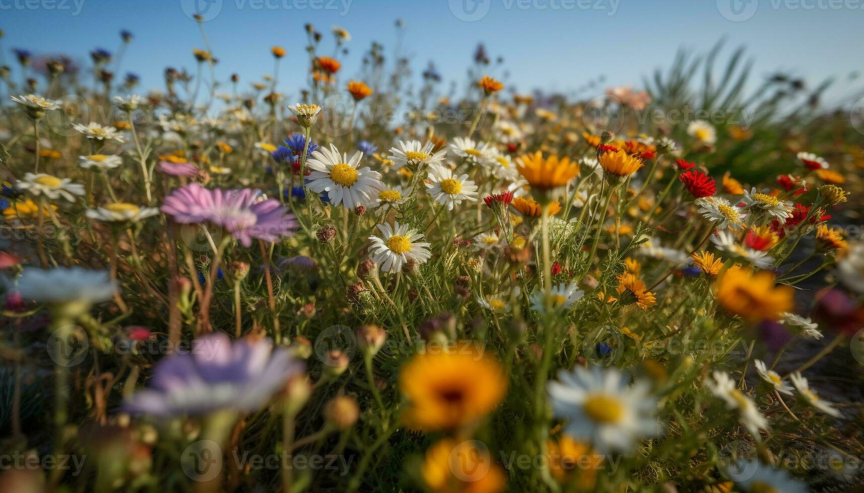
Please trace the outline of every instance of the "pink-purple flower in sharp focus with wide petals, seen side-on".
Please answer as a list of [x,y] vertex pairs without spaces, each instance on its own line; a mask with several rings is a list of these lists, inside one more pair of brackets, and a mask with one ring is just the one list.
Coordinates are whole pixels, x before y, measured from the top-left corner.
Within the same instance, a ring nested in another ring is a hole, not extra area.
[[245,247],[252,244],[252,238],[276,243],[290,236],[298,224],[278,200],[264,199],[260,190],[207,190],[198,183],[168,195],[162,212],[181,224],[210,221],[222,226]]

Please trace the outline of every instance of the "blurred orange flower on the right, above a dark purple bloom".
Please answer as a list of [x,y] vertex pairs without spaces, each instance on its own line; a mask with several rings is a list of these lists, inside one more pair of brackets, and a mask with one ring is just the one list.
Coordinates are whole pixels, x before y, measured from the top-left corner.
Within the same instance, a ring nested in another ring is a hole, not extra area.
[[775,286],[774,275],[766,270],[753,272],[740,266],[728,269],[715,282],[717,301],[728,313],[751,322],[778,319],[791,312],[793,289]]

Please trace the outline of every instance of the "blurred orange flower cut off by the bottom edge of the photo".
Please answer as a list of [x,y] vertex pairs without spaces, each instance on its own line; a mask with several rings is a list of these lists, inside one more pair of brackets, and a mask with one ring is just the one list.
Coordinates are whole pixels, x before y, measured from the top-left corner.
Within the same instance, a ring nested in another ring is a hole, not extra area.
[[504,471],[475,440],[440,439],[426,451],[420,468],[423,482],[434,493],[499,493],[506,486]]

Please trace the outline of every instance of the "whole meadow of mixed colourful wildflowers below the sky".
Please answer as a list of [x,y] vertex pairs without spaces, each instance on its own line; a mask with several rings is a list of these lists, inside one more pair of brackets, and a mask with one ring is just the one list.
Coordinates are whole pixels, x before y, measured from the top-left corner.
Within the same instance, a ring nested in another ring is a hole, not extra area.
[[828,85],[721,41],[573,97],[302,21],[238,74],[187,23],[151,87],[134,31],[0,31],[0,491],[860,490]]

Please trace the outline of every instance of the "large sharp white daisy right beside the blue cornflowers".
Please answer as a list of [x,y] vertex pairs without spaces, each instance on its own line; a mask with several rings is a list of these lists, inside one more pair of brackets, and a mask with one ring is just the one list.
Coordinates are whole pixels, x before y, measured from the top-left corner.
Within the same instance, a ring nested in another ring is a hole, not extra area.
[[375,198],[384,190],[381,174],[368,166],[358,168],[363,159],[362,152],[356,152],[348,159],[348,154],[340,154],[336,146],[330,149],[321,146],[312,153],[306,166],[309,174],[308,188],[315,193],[327,193],[330,203],[353,209],[358,205],[377,204]]

